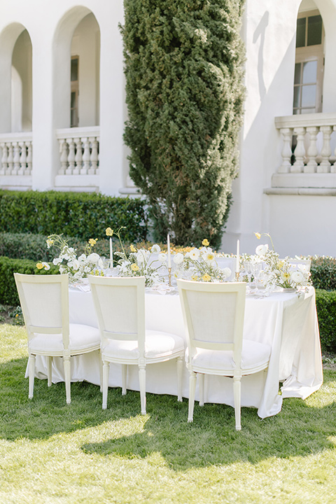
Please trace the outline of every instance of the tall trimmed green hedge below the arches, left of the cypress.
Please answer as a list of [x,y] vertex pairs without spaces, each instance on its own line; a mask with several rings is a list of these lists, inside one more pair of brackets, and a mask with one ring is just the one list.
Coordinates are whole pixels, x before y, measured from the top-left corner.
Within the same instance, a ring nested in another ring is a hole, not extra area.
[[125,226],[125,241],[147,237],[146,203],[140,199],[97,193],[0,190],[0,229],[3,232],[55,233],[89,238],[105,237],[106,228]]

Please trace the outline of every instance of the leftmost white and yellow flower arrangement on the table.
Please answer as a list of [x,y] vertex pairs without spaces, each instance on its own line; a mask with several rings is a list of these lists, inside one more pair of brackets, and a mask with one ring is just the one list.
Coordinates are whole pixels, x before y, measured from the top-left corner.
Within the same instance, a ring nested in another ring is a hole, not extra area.
[[[50,235],[47,239],[48,248],[52,245],[59,248],[59,255],[52,260],[52,263],[59,266],[60,274],[69,274],[71,283],[80,281],[89,274],[104,275],[102,259],[99,254],[92,252],[92,248],[96,243],[97,239],[90,238],[84,252],[77,257],[75,248],[70,247],[62,235]],[[39,267],[38,264],[36,267]]]

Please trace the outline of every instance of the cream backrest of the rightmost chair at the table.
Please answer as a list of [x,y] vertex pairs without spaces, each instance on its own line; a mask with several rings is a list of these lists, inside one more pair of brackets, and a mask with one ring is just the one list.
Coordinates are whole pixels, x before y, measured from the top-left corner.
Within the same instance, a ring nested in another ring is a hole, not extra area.
[[178,279],[190,357],[195,349],[233,351],[241,365],[246,283]]

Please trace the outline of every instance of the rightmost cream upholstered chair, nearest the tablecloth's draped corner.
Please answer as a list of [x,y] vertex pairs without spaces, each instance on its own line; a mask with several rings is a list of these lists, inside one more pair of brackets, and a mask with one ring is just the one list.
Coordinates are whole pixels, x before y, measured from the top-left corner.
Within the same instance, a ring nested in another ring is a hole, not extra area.
[[178,280],[185,321],[190,372],[188,421],[193,421],[195,386],[204,374],[233,378],[236,429],[241,430],[241,376],[268,367],[270,346],[243,339],[245,283],[202,283]]

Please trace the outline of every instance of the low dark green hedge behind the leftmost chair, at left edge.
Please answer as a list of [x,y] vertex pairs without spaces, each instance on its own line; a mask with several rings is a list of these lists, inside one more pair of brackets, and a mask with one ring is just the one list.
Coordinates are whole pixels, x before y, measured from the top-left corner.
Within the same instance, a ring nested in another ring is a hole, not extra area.
[[10,259],[0,257],[0,303],[10,306],[20,304],[14,273],[25,274],[57,274],[58,266],[50,265],[50,269],[36,268],[36,260]]

